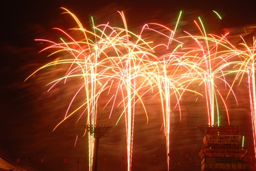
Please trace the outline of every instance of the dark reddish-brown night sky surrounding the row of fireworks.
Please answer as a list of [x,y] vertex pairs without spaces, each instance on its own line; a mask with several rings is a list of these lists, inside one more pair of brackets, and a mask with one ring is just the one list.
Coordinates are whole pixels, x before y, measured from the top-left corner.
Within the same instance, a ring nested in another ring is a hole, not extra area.
[[[61,15],[60,7],[75,13],[86,27],[90,27],[90,16],[95,17],[97,22],[108,22],[116,16],[116,11],[124,11],[127,25],[132,30],[147,22],[159,22],[174,27],[180,10],[184,11],[186,22],[192,22],[192,19],[200,15],[207,26],[212,26],[213,32],[218,29],[216,33],[221,28],[241,28],[256,24],[253,1],[1,2],[0,155],[13,163],[19,158],[18,164],[31,171],[86,170],[88,164],[88,147],[86,137],[83,137],[84,118],[76,123],[78,116],[72,117],[52,132],[63,119],[68,97],[76,92],[76,85],[57,86],[47,92],[45,84],[49,82],[48,78],[54,78],[57,74],[49,70],[24,82],[36,68],[49,61],[44,53],[38,54],[44,47],[35,39],[56,38],[52,27],[72,27],[70,20],[66,20],[67,16]],[[217,22],[212,19],[212,10],[220,12],[223,20]],[[246,99],[248,96],[242,90],[243,85],[237,89],[241,105],[236,107],[231,101],[230,112],[234,114],[233,123],[241,126],[241,133],[248,137],[246,145],[252,150],[251,121]],[[171,170],[200,169],[198,152],[204,145],[204,135],[197,126],[207,123],[206,109],[200,105],[200,100],[191,107],[191,95],[186,98],[182,104],[182,121],[179,120],[179,114],[173,114],[172,118]],[[204,99],[201,102],[204,103]],[[140,110],[136,116],[135,124],[140,126],[134,133],[132,170],[135,171],[166,170],[165,137],[161,130],[162,120],[157,116],[159,107],[152,103],[149,110],[155,115],[149,116],[148,124]],[[107,113],[102,112],[102,118],[102,123],[115,123],[115,119],[107,119]],[[126,169],[125,143],[123,119],[100,139],[99,170]]]

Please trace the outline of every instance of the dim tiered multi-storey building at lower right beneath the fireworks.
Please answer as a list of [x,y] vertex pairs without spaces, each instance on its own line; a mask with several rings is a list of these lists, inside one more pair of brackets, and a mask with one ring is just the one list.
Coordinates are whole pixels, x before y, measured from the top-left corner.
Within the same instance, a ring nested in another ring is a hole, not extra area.
[[201,171],[246,170],[244,137],[238,126],[200,126],[205,130]]

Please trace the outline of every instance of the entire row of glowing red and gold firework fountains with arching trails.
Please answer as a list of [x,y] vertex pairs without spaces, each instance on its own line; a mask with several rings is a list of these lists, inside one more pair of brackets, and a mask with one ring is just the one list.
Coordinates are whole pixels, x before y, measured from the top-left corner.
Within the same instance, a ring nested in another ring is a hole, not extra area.
[[[148,112],[148,106],[158,103],[166,138],[166,168],[170,170],[172,115],[178,114],[182,120],[183,97],[192,93],[195,103],[198,98],[204,98],[209,126],[230,125],[232,114],[228,98],[232,94],[238,105],[236,86],[246,81],[255,144],[254,38],[251,45],[241,36],[243,43],[236,45],[228,40],[230,33],[207,33],[200,17],[194,21],[196,31],[180,31],[182,12],[174,29],[148,23],[138,32],[140,34],[136,34],[128,29],[124,13],[118,12],[124,27],[111,26],[108,22],[95,25],[92,19],[92,31],[89,31],[74,13],[62,9],[74,19],[77,27],[67,31],[55,28],[61,34],[59,41],[36,40],[45,44],[42,51],[55,58],[29,76],[41,70],[61,70],[63,75],[49,82],[49,91],[70,80],[76,84],[77,91],[70,98],[63,120],[54,130],[75,114],[79,115],[77,122],[86,118],[82,122],[92,125],[100,123],[103,110],[109,113],[109,119],[115,125],[122,124],[120,121],[124,119],[126,165],[127,170],[132,170],[136,112],[143,108],[145,123],[151,122],[148,118],[152,113]],[[214,13],[218,15],[216,11]],[[151,103],[148,103],[148,98]],[[74,107],[77,99],[79,105]],[[88,169],[92,170],[95,145],[92,135],[87,135]]]

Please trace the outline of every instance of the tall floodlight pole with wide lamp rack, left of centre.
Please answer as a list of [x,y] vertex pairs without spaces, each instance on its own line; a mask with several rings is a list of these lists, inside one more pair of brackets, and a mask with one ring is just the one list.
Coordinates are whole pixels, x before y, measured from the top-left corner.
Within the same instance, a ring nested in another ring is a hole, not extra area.
[[103,137],[113,126],[106,124],[87,124],[85,126],[86,130],[90,132],[90,134],[95,139],[95,146],[93,152],[93,163],[92,163],[92,171],[97,171],[97,160],[98,160],[98,149],[99,149],[99,141],[100,138]]

